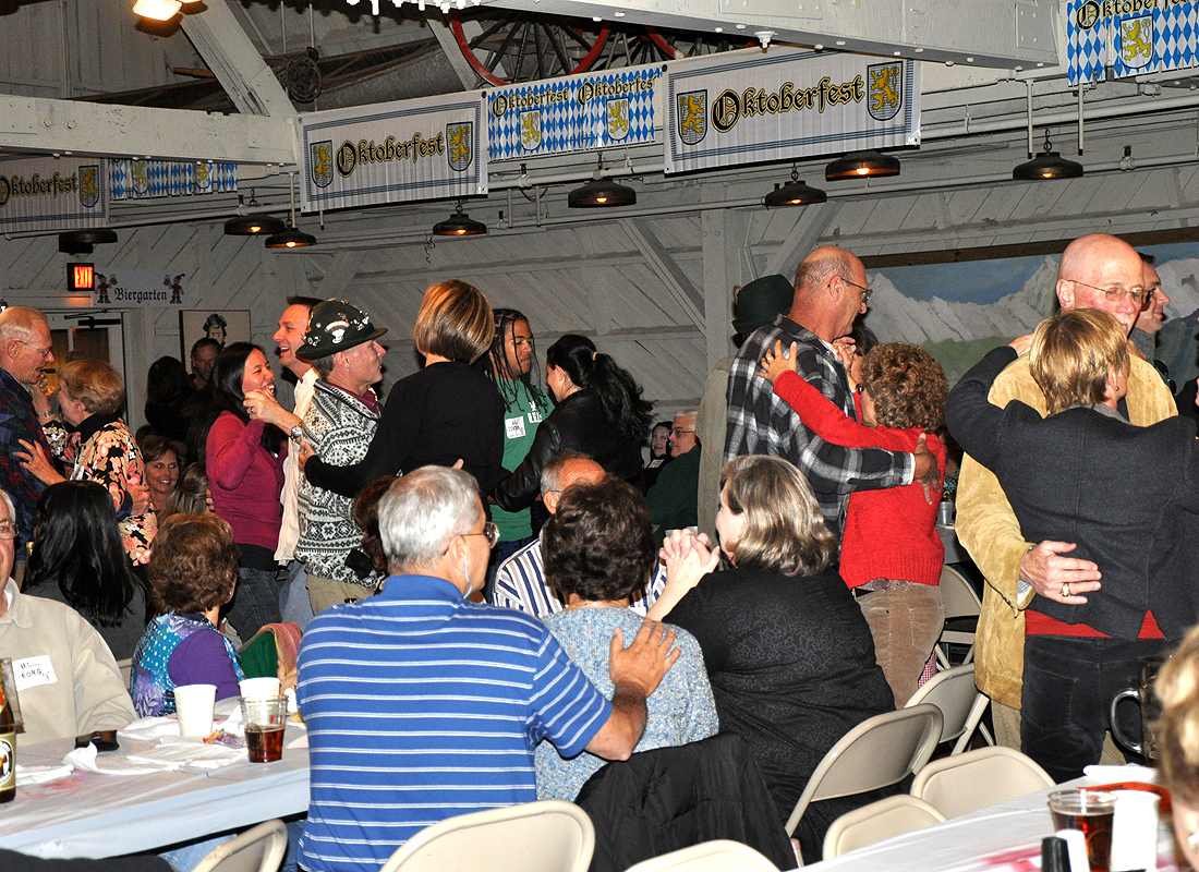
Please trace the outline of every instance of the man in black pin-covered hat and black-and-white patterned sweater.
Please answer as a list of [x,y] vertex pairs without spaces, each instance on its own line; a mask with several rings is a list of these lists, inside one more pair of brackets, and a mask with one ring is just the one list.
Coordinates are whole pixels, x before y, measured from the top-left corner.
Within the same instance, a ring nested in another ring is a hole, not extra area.
[[[382,378],[386,354],[376,339],[386,333],[370,315],[344,300],[329,300],[312,309],[303,344],[295,355],[320,375],[303,417],[303,437],[323,458],[338,465],[357,463],[370,447],[379,426],[379,399],[370,385]],[[347,565],[362,542],[353,521],[353,498],[313,487],[300,488],[300,541],[296,558],[308,572],[313,614],[374,593],[381,581],[369,567]]]

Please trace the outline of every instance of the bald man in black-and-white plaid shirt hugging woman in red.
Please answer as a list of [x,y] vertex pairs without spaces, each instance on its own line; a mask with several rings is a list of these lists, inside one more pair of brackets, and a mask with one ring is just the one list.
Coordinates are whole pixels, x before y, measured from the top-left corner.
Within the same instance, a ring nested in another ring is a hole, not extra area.
[[870,296],[866,267],[849,252],[825,246],[812,252],[795,276],[795,300],[787,315],[755,331],[729,369],[729,420],[724,459],[773,455],[794,463],[815,492],[825,523],[838,539],[854,491],[878,491],[912,481],[935,482],[933,455],[921,441],[915,455],[882,449],[850,449],[809,431],[771,383],[758,378],[761,359],[779,339],[784,353],[799,343],[796,369],[840,409],[857,419],[845,367],[832,343],[849,335]]

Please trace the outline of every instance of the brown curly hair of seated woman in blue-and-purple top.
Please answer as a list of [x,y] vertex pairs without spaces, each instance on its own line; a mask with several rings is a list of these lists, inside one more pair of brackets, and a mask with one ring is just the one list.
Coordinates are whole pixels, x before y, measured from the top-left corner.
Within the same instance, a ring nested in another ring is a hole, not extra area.
[[158,528],[146,573],[159,612],[206,612],[233,599],[240,554],[216,515],[171,515]]

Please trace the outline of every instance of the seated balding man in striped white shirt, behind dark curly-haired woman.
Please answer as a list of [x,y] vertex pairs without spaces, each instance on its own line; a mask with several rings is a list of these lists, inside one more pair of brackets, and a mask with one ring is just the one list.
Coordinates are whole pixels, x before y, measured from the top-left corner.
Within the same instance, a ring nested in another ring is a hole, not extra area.
[[[555,515],[562,492],[572,485],[592,485],[605,475],[603,467],[582,451],[560,453],[541,471],[541,499],[546,504],[546,511]],[[657,601],[665,583],[665,569],[659,563],[644,591],[633,600],[629,608],[644,615],[646,609]],[[535,618],[544,618],[566,608],[566,600],[562,595],[546,584],[540,539],[530,542],[500,564],[495,572],[492,605],[500,608],[514,608]]]

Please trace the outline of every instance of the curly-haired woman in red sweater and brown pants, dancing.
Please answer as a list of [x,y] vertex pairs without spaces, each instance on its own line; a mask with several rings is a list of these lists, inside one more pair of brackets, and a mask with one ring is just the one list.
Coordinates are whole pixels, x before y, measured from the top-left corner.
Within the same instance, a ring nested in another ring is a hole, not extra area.
[[[852,447],[912,451],[927,434],[928,450],[945,474],[945,447],[933,435],[941,426],[948,384],[945,372],[918,345],[878,345],[854,387],[858,423],[794,371],[795,347],[782,343],[763,357],[775,393],[821,439]],[[921,672],[945,624],[938,583],[945,547],[936,535],[938,501],[917,483],[850,495],[840,546],[840,575],[870,625],[874,653],[902,708],[916,692]]]

